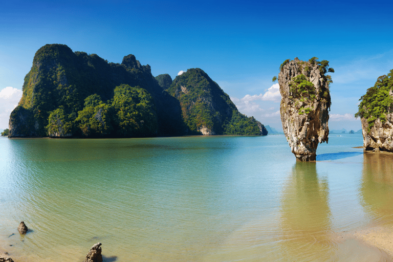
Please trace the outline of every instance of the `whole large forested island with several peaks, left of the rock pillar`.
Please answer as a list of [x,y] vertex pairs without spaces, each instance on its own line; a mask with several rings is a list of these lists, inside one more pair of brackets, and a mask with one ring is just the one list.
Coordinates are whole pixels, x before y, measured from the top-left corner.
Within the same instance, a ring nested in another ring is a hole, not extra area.
[[134,55],[121,64],[53,44],[35,54],[9,137],[267,135],[202,69],[173,81]]

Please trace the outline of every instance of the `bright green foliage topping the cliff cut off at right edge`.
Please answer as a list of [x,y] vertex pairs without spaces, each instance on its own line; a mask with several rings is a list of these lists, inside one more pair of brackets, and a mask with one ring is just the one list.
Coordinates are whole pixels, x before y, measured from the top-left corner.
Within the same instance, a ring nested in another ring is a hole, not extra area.
[[378,77],[374,86],[367,89],[367,92],[359,101],[359,111],[355,117],[367,120],[368,130],[374,126],[374,122],[380,119],[386,122],[386,115],[393,112],[393,69],[390,73]]

